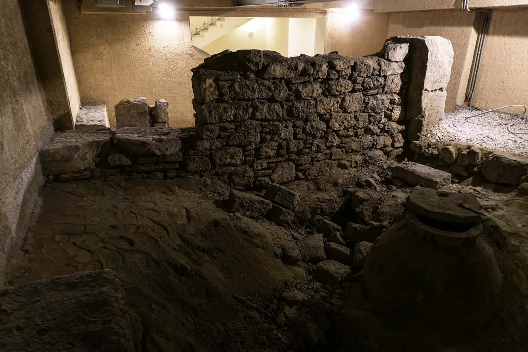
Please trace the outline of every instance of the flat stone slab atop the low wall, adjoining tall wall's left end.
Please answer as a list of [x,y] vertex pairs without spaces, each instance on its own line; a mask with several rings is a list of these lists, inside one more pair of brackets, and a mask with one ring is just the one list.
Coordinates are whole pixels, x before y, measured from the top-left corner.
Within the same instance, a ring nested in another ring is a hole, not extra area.
[[114,142],[127,153],[136,155],[174,154],[182,148],[182,139],[194,135],[190,129],[172,127],[123,127]]

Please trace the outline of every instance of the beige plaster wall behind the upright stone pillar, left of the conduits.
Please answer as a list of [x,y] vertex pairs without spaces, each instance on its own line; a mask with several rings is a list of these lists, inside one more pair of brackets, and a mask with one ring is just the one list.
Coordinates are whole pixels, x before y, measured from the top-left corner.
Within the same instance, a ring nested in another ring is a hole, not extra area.
[[398,12],[390,16],[389,37],[439,35],[451,41],[455,57],[447,86],[447,112],[452,111],[455,104],[464,103],[470,69],[467,63],[475,50],[474,20],[474,13],[448,10]]

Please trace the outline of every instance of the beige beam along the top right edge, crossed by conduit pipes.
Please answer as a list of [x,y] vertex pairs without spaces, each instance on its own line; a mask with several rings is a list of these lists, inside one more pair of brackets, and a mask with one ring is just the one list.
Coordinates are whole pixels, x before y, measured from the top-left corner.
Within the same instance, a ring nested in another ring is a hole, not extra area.
[[[528,6],[528,0],[471,0],[470,8]],[[376,0],[376,12],[425,11],[438,9],[461,9],[462,0]]]

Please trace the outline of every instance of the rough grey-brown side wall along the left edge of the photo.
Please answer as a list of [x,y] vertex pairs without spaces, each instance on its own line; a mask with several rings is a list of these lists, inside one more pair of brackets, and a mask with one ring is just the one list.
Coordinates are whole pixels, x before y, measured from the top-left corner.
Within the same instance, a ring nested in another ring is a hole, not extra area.
[[[43,176],[37,153],[52,131],[17,0],[0,0],[0,284],[29,226]],[[8,48],[8,49],[7,49]]]

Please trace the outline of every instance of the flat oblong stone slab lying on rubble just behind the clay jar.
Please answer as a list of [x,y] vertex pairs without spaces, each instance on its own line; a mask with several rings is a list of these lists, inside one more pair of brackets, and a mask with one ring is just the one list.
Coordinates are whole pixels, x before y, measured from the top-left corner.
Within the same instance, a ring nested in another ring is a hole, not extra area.
[[412,186],[438,189],[451,183],[450,173],[411,161],[394,166],[392,174]]

